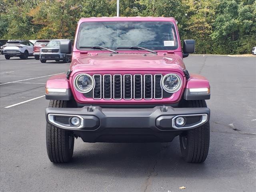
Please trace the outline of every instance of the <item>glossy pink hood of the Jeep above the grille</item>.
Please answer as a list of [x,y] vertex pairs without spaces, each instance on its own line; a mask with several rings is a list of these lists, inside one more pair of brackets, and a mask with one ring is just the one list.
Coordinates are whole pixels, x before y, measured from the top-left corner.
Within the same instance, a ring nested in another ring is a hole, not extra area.
[[141,53],[73,53],[71,70],[86,71],[183,71],[182,58],[176,54],[141,54]]

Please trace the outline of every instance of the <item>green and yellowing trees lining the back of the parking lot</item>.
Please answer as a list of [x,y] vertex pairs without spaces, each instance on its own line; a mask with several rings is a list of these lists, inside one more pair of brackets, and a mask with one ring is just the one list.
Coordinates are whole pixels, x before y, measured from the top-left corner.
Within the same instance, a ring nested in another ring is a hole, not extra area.
[[[116,16],[116,0],[1,0],[1,39],[74,38],[82,17]],[[243,54],[256,46],[255,0],[120,0],[120,16],[178,21],[197,53]]]

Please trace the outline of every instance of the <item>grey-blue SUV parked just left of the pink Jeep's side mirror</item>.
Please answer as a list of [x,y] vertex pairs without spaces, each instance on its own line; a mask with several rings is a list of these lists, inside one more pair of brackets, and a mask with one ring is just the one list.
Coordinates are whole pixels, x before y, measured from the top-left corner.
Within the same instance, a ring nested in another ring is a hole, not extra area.
[[70,58],[65,53],[60,52],[60,42],[64,40],[70,41],[72,45],[74,44],[73,39],[52,39],[47,46],[40,49],[40,61],[45,63],[46,60],[55,60],[68,63]]

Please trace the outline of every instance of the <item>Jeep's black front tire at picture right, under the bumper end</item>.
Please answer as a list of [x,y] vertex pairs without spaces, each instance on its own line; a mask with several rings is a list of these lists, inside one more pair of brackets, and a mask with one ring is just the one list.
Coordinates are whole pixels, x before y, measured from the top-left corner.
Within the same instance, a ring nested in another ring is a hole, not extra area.
[[[186,107],[207,107],[205,100],[188,101]],[[180,135],[180,150],[186,162],[201,163],[206,160],[210,143],[209,120],[202,126]]]

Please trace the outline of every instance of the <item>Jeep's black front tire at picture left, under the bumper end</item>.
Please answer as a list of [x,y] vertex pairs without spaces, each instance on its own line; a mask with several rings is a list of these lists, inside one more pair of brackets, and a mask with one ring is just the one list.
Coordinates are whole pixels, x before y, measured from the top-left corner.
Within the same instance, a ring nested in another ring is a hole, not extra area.
[[[50,100],[49,107],[65,108],[68,101]],[[66,163],[72,159],[74,151],[74,136],[70,131],[46,124],[47,154],[53,163]]]

